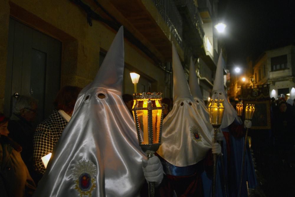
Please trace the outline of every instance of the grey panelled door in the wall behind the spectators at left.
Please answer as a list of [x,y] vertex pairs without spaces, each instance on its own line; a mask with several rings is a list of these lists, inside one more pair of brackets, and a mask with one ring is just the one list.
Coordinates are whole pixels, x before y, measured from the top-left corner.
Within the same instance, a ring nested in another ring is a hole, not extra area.
[[38,100],[36,123],[53,110],[60,89],[61,42],[14,20],[9,20],[4,113],[10,116],[15,92]]

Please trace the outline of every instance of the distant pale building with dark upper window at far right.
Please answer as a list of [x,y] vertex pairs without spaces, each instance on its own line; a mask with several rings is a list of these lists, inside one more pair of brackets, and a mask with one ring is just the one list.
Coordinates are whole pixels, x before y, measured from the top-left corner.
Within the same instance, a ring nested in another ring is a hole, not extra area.
[[[269,84],[270,96],[295,98],[295,46],[265,51],[253,66],[255,85]],[[293,90],[292,90],[293,89]]]

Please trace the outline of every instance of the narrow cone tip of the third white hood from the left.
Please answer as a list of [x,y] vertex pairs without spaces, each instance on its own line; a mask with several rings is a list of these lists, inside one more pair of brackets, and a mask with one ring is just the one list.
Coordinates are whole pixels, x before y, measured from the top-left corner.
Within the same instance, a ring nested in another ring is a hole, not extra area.
[[193,58],[191,57],[191,64],[189,67],[189,89],[191,90],[191,95],[194,98],[199,98],[203,100],[201,89],[199,86],[198,78],[196,76],[196,70],[193,63]]

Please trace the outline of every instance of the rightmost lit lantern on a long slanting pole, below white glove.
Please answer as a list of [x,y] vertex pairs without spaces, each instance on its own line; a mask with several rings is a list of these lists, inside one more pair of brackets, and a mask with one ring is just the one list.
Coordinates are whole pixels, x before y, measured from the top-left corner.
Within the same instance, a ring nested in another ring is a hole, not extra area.
[[[253,114],[255,110],[255,105],[247,104],[245,108],[245,120],[252,120]],[[248,130],[246,130],[245,136],[245,144],[243,149],[243,159],[242,159],[242,168],[241,168],[241,175],[240,175],[240,186],[239,186],[239,197],[241,196],[241,188],[242,188],[242,179],[243,179],[243,170],[244,170],[244,163],[245,163],[245,156],[246,156],[246,145],[247,145],[247,138],[248,138]]]

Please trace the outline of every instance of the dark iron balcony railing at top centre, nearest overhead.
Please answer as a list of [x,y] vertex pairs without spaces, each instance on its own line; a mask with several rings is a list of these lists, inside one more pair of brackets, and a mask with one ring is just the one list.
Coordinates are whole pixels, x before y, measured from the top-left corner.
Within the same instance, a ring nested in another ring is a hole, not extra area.
[[152,1],[168,25],[170,32],[176,38],[178,44],[182,47],[182,18],[175,4],[171,0]]

